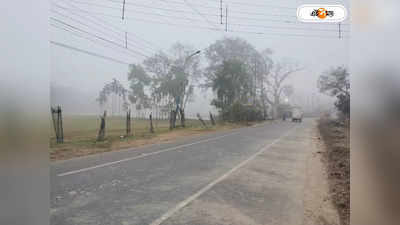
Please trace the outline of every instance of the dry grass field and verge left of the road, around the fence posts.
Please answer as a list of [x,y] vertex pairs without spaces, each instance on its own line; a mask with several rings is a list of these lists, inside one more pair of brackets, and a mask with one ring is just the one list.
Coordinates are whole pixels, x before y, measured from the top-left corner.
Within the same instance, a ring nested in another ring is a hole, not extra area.
[[[177,122],[179,124],[179,122]],[[108,117],[106,140],[97,142],[100,119],[96,116],[66,116],[63,119],[64,143],[57,144],[53,132],[50,139],[50,159],[66,160],[75,157],[163,143],[188,136],[201,135],[217,130],[233,129],[241,125],[224,124],[204,128],[198,120],[187,120],[185,128],[169,130],[169,121],[154,120],[154,131],[150,133],[148,120],[132,120],[132,136],[125,136],[125,118]]]

